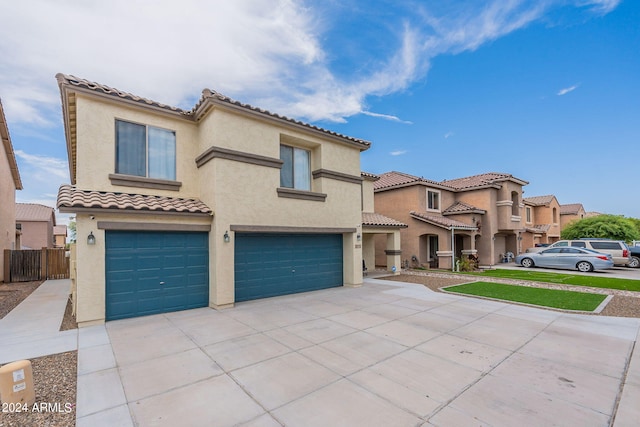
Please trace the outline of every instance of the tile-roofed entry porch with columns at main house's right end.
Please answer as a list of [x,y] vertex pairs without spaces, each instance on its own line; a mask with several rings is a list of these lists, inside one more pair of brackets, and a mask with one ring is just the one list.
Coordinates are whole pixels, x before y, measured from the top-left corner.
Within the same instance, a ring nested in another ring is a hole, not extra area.
[[[402,268],[402,251],[400,245],[400,230],[407,228],[406,224],[396,221],[375,211],[374,182],[379,176],[362,172],[362,259],[363,268],[367,270],[376,266],[376,237],[384,236],[384,263],[378,265],[387,270],[400,272]],[[360,239],[358,234],[357,239]]]

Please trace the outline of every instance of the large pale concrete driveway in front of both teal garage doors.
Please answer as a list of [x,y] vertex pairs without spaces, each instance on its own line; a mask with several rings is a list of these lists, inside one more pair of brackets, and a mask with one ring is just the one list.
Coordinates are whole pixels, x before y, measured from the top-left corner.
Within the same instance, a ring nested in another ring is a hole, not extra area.
[[109,322],[78,426],[637,425],[639,329],[373,279]]

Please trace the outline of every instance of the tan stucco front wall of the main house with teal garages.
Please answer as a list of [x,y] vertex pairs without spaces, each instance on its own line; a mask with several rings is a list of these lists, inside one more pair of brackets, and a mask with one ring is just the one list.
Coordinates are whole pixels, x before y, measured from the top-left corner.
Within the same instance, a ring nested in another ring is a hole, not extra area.
[[[312,191],[327,195],[325,201],[278,197],[280,169],[234,160],[214,158],[198,168],[195,158],[211,147],[244,153],[280,157],[280,143],[311,150],[311,170],[326,169],[360,177],[360,149],[334,142],[316,133],[288,129],[269,120],[238,116],[222,109],[210,112],[199,123],[173,119],[163,114],[132,109],[120,103],[102,103],[79,96],[77,101],[78,154],[77,187],[81,189],[195,197],[213,211],[212,218],[141,214],[95,213],[77,215],[78,322],[88,325],[105,318],[105,234],[97,221],[167,222],[211,224],[209,234],[210,305],[234,303],[234,232],[232,226],[343,228],[343,280],[345,285],[362,283],[360,230],[362,187],[360,182],[330,178],[312,180]],[[115,172],[115,119],[176,131],[177,181],[179,191],[115,186],[109,174]],[[87,246],[93,231],[96,245]],[[231,236],[223,240],[224,233]]]

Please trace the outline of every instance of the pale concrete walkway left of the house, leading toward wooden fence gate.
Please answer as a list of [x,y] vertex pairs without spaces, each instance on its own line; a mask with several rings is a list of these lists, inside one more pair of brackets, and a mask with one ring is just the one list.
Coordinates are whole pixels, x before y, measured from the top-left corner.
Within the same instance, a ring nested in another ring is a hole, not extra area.
[[78,348],[78,330],[60,332],[69,279],[47,280],[0,319],[0,363]]

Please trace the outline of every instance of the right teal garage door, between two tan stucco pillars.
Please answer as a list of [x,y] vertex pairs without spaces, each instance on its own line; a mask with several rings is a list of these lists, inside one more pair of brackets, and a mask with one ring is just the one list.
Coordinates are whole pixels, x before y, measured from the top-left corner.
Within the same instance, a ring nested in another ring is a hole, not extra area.
[[235,235],[235,300],[342,286],[341,234]]

